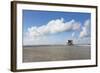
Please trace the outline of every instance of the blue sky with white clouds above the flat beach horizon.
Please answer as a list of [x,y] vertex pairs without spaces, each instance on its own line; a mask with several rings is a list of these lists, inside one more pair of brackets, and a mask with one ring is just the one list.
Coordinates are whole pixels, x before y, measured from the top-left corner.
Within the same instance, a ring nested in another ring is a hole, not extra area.
[[23,45],[90,44],[91,14],[23,10]]

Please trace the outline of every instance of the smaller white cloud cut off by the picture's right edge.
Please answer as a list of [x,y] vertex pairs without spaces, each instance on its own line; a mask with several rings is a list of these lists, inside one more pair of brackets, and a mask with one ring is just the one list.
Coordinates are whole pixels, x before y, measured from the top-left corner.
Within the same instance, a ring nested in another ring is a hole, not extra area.
[[90,36],[90,20],[86,20],[84,26],[82,27],[82,31],[80,32],[79,37],[88,37]]

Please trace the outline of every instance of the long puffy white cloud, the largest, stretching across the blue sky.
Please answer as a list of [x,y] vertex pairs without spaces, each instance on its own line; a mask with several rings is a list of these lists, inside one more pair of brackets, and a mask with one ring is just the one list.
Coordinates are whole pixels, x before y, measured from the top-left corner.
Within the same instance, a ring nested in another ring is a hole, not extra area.
[[61,19],[51,20],[47,24],[41,25],[39,27],[37,26],[29,27],[26,32],[26,35],[28,35],[29,37],[40,37],[48,34],[55,34],[59,32],[64,32],[64,31],[67,32],[70,30],[79,30],[79,29],[80,29],[79,22],[76,22],[75,20],[64,22],[64,19],[61,18]]

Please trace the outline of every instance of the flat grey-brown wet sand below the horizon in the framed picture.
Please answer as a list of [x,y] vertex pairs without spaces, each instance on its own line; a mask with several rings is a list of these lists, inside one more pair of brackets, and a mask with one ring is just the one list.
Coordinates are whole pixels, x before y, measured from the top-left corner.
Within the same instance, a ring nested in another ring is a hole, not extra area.
[[91,58],[90,46],[23,46],[23,62],[83,60]]

